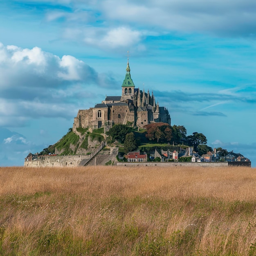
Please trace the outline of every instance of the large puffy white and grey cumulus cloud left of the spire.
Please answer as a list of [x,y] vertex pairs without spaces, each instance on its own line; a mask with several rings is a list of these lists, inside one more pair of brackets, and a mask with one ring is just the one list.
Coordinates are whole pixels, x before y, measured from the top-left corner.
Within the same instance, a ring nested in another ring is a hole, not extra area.
[[39,117],[74,117],[77,95],[86,99],[92,96],[88,86],[109,85],[117,85],[112,76],[99,74],[74,56],[60,58],[39,47],[0,44],[0,126],[21,126]]

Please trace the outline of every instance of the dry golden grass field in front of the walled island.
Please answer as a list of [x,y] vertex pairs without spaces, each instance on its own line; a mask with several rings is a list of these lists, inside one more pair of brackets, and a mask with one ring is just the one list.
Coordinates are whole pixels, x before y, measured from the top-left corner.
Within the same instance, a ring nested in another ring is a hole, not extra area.
[[256,169],[0,168],[0,255],[256,255]]

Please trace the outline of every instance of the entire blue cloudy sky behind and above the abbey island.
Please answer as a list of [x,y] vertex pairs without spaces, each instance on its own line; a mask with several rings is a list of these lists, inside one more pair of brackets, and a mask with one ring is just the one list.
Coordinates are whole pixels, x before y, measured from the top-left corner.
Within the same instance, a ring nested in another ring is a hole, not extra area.
[[172,124],[256,166],[256,2],[0,2],[0,166],[54,144],[79,109],[136,87]]

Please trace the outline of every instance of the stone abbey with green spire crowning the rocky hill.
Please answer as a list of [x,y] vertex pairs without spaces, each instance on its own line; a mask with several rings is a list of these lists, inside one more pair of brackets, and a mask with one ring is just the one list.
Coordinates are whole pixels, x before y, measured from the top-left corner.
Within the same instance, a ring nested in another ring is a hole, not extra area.
[[142,128],[156,122],[171,125],[171,118],[165,107],[159,107],[152,92],[135,88],[130,75],[129,58],[126,76],[121,86],[121,96],[106,96],[101,103],[88,110],[79,110],[74,118],[73,130],[78,127],[109,130],[114,124],[131,124]]

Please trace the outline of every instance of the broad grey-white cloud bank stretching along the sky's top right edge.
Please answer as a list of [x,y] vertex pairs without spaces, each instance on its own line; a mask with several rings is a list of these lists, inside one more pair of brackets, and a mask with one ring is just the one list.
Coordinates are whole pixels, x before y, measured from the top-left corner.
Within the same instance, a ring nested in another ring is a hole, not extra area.
[[147,27],[226,34],[256,32],[256,3],[252,0],[108,0],[101,8],[110,20]]

